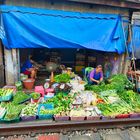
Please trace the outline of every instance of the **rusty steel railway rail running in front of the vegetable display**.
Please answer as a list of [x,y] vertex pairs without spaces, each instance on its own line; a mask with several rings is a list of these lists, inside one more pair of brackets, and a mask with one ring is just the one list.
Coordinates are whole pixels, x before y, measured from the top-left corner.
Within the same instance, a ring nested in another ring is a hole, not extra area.
[[64,133],[70,130],[97,130],[107,128],[129,128],[140,126],[140,118],[111,119],[94,121],[54,122],[38,120],[12,124],[0,123],[0,136],[21,135],[29,133]]

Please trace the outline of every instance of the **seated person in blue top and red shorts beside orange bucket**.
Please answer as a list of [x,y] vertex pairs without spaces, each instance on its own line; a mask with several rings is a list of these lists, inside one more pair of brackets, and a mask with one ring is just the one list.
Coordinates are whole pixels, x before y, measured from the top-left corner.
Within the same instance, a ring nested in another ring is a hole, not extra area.
[[40,66],[32,59],[32,56],[29,56],[29,59],[25,61],[21,68],[21,72],[25,75],[30,76],[30,78],[36,78],[37,69]]

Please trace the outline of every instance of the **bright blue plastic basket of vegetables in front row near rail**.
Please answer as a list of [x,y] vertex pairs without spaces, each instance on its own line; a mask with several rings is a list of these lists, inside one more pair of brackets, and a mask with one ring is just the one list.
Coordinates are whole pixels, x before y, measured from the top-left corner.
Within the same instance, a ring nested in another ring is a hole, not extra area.
[[40,109],[44,107],[45,109],[48,110],[53,110],[54,109],[54,104],[40,104],[38,106],[38,111],[37,111],[37,115],[39,119],[52,119],[53,118],[53,114],[46,114],[46,115],[41,115],[40,114]]

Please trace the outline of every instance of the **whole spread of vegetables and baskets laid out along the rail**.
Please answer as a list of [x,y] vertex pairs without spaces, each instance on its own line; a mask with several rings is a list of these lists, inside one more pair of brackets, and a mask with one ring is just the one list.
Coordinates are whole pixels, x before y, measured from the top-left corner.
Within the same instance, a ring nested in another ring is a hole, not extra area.
[[17,88],[0,89],[0,121],[36,119],[84,121],[140,117],[140,95],[125,75],[113,75],[99,85],[88,85],[74,73],[48,80],[45,87],[25,93]]

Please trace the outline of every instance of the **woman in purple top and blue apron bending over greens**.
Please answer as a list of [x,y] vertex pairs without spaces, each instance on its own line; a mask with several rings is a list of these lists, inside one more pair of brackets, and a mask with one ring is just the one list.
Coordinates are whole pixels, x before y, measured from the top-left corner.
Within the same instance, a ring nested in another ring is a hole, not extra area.
[[90,77],[91,84],[93,85],[99,84],[103,80],[102,66],[98,65],[95,69],[93,69],[89,77]]

